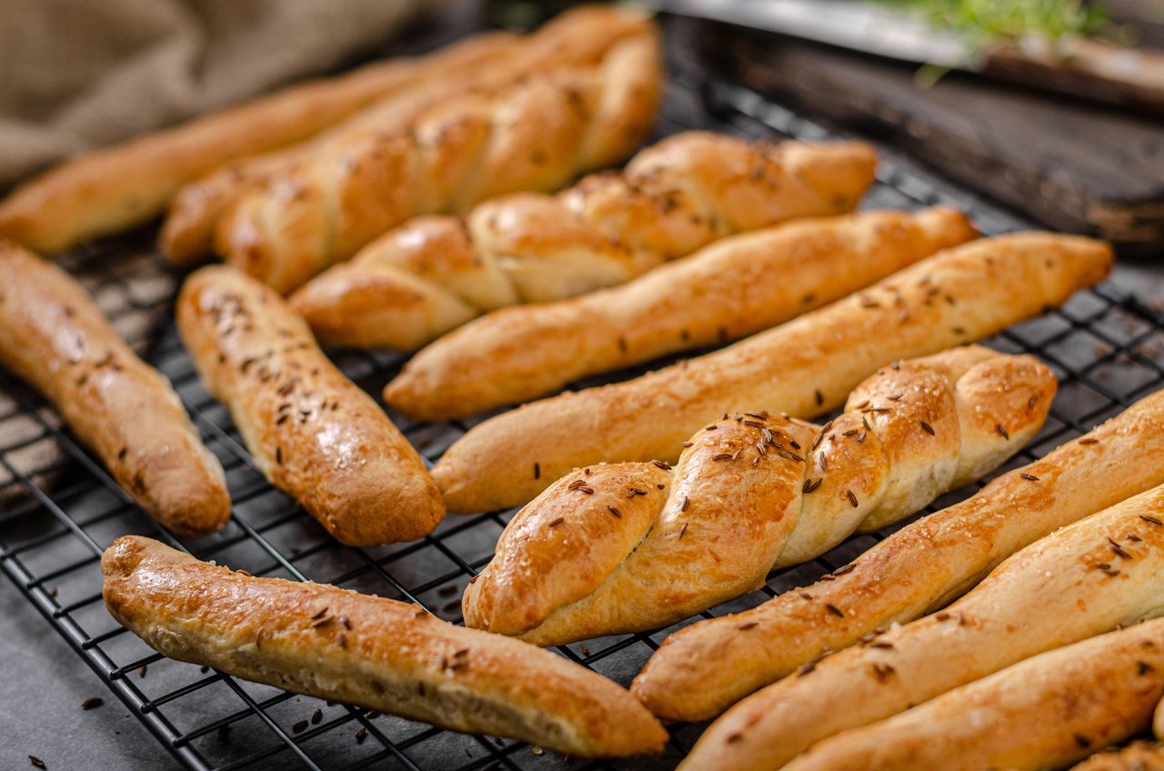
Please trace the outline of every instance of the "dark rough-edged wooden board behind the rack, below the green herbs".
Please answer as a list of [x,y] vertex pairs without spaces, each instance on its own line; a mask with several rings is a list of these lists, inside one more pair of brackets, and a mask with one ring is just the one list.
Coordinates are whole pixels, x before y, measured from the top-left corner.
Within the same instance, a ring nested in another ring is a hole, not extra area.
[[966,75],[728,24],[676,20],[708,65],[810,115],[872,134],[1048,227],[1124,253],[1164,249],[1164,122]]

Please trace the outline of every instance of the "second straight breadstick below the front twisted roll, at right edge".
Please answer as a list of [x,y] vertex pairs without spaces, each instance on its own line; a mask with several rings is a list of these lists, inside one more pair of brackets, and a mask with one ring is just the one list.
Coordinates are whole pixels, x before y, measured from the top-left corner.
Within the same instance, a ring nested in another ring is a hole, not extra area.
[[1157,487],[1036,540],[942,613],[894,625],[739,702],[700,738],[691,766],[779,769],[829,736],[1164,614],[1162,517]]

